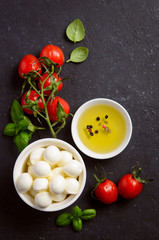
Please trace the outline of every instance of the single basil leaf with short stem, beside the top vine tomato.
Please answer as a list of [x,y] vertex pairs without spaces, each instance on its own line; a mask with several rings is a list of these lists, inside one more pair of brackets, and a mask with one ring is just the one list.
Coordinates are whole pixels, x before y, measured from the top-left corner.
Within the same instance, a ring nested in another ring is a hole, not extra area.
[[70,55],[70,59],[66,62],[83,62],[88,57],[89,50],[86,47],[75,48]]

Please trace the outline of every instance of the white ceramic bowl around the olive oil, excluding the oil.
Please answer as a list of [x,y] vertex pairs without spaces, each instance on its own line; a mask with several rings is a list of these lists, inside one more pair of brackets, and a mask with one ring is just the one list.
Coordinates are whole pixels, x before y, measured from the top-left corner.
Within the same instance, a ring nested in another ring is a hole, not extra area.
[[[122,114],[122,116],[124,117],[125,122],[126,122],[126,135],[125,135],[123,142],[117,149],[115,149],[114,151],[109,152],[109,153],[96,153],[96,152],[93,152],[92,150],[88,149],[83,144],[83,142],[81,141],[79,134],[78,134],[77,125],[78,125],[79,117],[89,107],[92,107],[92,106],[95,106],[98,104],[109,105],[109,106],[116,108]],[[108,158],[112,158],[112,157],[118,155],[119,153],[121,153],[128,145],[131,135],[132,135],[132,122],[131,122],[131,118],[130,118],[128,112],[119,103],[117,103],[113,100],[107,99],[107,98],[96,98],[96,99],[93,99],[93,100],[90,100],[90,101],[84,103],[81,107],[78,108],[78,110],[74,114],[74,117],[72,120],[71,133],[72,133],[73,140],[74,140],[75,144],[77,145],[77,147],[83,153],[85,153],[87,156],[96,158],[96,159],[108,159]]]

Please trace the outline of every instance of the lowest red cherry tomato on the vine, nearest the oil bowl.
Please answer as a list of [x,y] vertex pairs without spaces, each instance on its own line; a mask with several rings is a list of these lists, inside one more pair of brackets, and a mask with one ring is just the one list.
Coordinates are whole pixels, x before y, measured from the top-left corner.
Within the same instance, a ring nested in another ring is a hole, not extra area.
[[47,110],[50,117],[50,120],[55,122],[57,121],[57,102],[59,101],[60,105],[63,107],[66,114],[69,114],[70,107],[69,104],[60,97],[55,97],[53,100],[50,99],[50,101],[47,104]]

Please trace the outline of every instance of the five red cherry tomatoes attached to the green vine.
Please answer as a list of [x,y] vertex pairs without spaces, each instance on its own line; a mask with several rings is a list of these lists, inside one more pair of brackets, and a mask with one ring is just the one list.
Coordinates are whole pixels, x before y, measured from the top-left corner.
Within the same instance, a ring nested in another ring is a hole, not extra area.
[[[62,66],[65,62],[65,57],[62,50],[59,47],[54,46],[52,44],[45,46],[41,50],[40,58],[43,58],[43,57],[46,57],[50,59],[53,63],[58,64],[57,67]],[[49,73],[46,71],[46,67],[44,68],[41,62],[39,61],[39,59],[37,59],[32,54],[28,54],[24,56],[23,59],[20,61],[19,67],[18,67],[18,73],[22,79],[26,79],[27,74],[30,72],[38,73],[38,74],[35,74],[34,76],[34,80],[37,81],[38,91],[41,91],[42,83],[43,81],[45,81],[43,84],[43,89],[44,89],[43,94],[45,97],[50,96],[52,92],[52,86],[51,86],[52,78],[57,83],[61,81],[61,78],[56,72],[53,72],[52,76],[48,76]],[[62,87],[63,87],[63,83],[60,82],[57,89],[58,92],[62,89]],[[34,89],[31,89],[29,91],[29,95],[28,95],[28,92],[26,92],[21,98],[21,105],[23,107],[23,110],[27,114],[33,114],[33,111],[31,109],[25,108],[25,106],[27,106],[26,98],[30,99],[33,102],[38,101],[39,112],[40,110],[44,109],[44,104],[42,99],[39,97],[39,94]],[[60,105],[62,106],[66,114],[69,114],[69,111],[70,111],[69,104],[61,97],[55,96],[54,99],[50,98],[50,100],[47,103],[47,111],[48,111],[50,120],[53,122],[58,120],[57,119],[57,102],[60,103]]]

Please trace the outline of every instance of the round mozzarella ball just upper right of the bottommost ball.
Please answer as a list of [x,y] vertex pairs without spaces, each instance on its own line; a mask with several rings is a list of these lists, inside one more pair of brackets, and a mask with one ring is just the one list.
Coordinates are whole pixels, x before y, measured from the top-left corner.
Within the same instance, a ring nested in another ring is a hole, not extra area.
[[53,194],[59,194],[59,193],[63,193],[63,191],[65,190],[65,185],[66,185],[66,182],[64,177],[61,175],[58,175],[51,179],[49,183],[49,188]]

